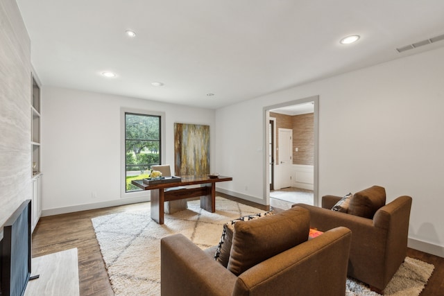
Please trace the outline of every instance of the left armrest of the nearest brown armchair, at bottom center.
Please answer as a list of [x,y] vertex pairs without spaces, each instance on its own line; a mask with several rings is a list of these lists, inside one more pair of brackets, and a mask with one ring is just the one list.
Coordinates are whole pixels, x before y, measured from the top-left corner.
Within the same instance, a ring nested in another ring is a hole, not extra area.
[[162,295],[232,295],[237,277],[182,234],[160,241]]

